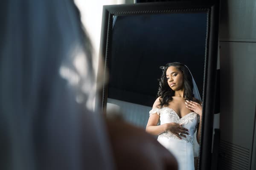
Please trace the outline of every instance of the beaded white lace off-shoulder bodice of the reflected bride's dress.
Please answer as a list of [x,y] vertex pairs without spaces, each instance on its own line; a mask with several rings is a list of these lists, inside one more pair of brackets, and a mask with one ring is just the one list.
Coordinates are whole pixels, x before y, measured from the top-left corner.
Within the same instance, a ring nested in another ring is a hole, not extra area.
[[[182,118],[180,118],[172,108],[163,107],[160,109],[159,108],[152,109],[151,111],[149,111],[149,115],[151,114],[160,115],[160,125],[163,125],[165,123],[171,123],[171,122],[182,124],[183,127],[189,130],[189,135],[187,135],[186,137],[182,136],[181,137],[182,140],[194,144],[193,135],[195,133],[196,126],[200,121],[200,116],[197,113],[190,112],[185,116],[183,116]],[[161,137],[179,139],[175,134],[173,134],[169,130],[165,131],[164,133],[161,133],[158,136],[158,138],[161,138]]]

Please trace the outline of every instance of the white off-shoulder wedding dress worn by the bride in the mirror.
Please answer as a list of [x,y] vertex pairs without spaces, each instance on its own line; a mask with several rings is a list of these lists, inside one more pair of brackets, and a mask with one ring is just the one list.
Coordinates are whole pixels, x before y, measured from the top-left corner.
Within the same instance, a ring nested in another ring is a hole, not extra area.
[[195,112],[190,112],[180,118],[177,113],[168,107],[153,108],[149,111],[149,115],[157,113],[160,115],[160,125],[165,123],[175,122],[182,124],[183,127],[189,130],[189,135],[181,136],[179,139],[170,131],[161,133],[157,141],[166,147],[177,159],[179,170],[195,170],[194,166],[194,133],[200,117]]

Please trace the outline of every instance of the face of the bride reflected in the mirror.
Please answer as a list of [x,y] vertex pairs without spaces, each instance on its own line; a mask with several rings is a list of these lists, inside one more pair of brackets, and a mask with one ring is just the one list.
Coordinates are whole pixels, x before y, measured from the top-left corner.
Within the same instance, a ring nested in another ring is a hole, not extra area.
[[183,74],[175,66],[170,66],[166,70],[166,79],[170,88],[177,91],[183,88]]

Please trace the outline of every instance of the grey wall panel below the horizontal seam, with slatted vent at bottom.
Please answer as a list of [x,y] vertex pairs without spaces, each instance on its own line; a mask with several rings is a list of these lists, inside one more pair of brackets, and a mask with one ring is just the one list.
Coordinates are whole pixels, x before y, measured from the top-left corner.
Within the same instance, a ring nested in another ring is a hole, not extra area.
[[256,43],[221,42],[220,45],[222,165],[230,164],[226,168],[234,169],[236,164],[243,164],[249,170],[255,124]]

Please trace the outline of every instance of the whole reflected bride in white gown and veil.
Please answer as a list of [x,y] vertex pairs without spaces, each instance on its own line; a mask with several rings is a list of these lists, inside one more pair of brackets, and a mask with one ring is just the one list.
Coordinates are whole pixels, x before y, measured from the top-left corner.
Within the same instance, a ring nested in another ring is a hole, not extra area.
[[172,62],[160,68],[158,98],[149,112],[146,131],[158,135],[157,141],[175,155],[179,170],[195,170],[194,133],[199,143],[201,97],[186,65]]

